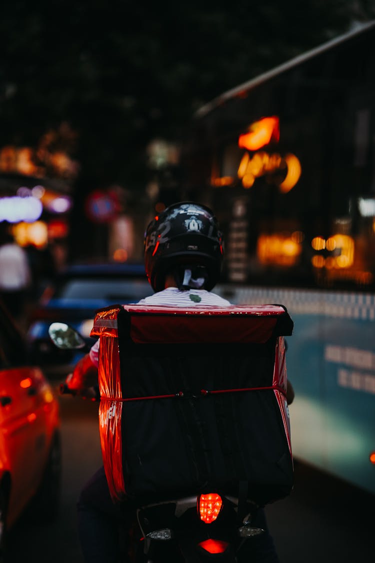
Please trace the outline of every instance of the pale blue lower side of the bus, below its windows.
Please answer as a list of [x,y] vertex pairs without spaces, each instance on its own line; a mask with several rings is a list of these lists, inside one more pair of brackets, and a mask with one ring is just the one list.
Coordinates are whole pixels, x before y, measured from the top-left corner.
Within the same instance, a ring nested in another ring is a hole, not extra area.
[[[218,293],[225,294],[225,287]],[[229,291],[229,289],[227,289]],[[295,325],[288,378],[295,457],[375,493],[375,296],[237,288],[236,303],[282,303]]]

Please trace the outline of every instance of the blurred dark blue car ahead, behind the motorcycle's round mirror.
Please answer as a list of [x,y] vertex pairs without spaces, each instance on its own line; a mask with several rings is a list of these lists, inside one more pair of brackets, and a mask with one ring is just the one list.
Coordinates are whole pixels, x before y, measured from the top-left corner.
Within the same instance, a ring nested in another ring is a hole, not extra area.
[[29,321],[28,343],[34,361],[50,377],[69,373],[83,352],[58,350],[48,327],[57,321],[70,324],[87,343],[95,312],[116,303],[134,303],[153,293],[141,263],[76,264],[66,267],[47,287]]

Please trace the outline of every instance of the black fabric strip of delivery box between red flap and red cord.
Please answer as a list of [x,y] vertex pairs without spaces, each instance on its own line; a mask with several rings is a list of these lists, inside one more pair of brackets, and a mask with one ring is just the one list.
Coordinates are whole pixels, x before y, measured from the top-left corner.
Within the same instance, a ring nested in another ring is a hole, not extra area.
[[[241,354],[223,346],[120,345],[123,397],[177,394],[272,385],[275,342],[243,345]],[[223,351],[225,351],[223,353]],[[187,374],[187,375],[186,375]]]

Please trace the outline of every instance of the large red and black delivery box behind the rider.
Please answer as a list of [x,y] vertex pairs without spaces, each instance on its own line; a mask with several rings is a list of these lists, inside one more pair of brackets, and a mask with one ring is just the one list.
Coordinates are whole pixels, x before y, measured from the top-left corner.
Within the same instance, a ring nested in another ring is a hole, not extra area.
[[293,486],[278,305],[124,305],[97,312],[100,436],[112,498],[198,492],[260,506]]

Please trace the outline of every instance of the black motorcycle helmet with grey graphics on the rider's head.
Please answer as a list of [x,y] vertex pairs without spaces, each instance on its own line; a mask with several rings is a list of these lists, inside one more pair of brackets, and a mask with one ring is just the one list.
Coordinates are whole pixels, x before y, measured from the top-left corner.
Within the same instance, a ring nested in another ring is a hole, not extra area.
[[[165,287],[165,276],[178,269],[204,271],[204,288],[218,282],[223,261],[223,238],[210,208],[180,202],[153,218],[144,237],[144,266],[155,292]],[[182,283],[178,284],[182,287]]]

